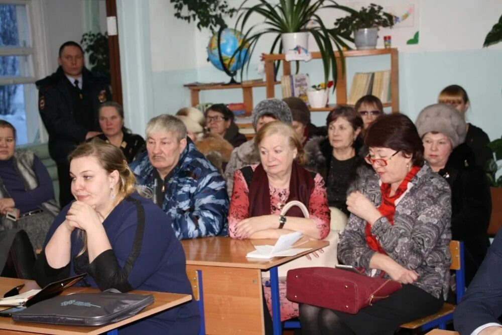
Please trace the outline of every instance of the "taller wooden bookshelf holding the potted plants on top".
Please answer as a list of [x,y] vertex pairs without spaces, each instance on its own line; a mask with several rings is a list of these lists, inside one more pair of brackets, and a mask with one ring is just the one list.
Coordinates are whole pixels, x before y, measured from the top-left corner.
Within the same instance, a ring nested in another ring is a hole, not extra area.
[[[375,56],[375,55],[389,55],[391,58],[391,103],[385,103],[384,107],[391,107],[393,113],[399,111],[399,53],[396,48],[389,49],[372,49],[372,50],[347,50],[343,52],[345,58],[348,57],[365,57],[365,56]],[[342,71],[342,63],[340,60],[340,54],[335,52],[336,64],[338,66],[338,77],[336,83],[336,103],[346,104],[347,103],[347,79]],[[312,52],[312,59],[320,59],[321,54],[319,52]],[[283,74],[291,74],[291,63],[286,62],[286,56],[284,54],[268,54],[263,55],[265,61],[265,72],[266,72],[266,82],[267,87],[267,98],[275,97],[274,85],[277,81],[274,81],[274,61],[282,60],[283,64]],[[346,69],[345,69],[346,70]],[[333,109],[335,104],[329,104],[324,108],[310,108],[311,111],[327,111]]]

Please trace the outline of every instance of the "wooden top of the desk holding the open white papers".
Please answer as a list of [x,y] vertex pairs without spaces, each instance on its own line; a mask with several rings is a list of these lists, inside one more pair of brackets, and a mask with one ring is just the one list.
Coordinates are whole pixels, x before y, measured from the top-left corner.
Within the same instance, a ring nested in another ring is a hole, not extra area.
[[296,245],[299,248],[312,249],[296,256],[274,257],[270,260],[246,258],[246,254],[255,250],[254,245],[274,245],[276,240],[236,240],[229,237],[209,237],[183,240],[181,244],[185,250],[188,265],[268,270],[329,245],[329,241],[310,240],[301,244],[303,241],[307,240],[302,238]]

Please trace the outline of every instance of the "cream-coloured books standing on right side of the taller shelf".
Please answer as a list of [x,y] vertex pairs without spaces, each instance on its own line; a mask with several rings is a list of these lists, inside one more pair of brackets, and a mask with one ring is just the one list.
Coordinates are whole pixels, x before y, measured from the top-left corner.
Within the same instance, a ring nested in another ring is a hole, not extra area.
[[354,105],[364,95],[371,94],[391,102],[391,71],[357,72],[352,79],[347,104]]

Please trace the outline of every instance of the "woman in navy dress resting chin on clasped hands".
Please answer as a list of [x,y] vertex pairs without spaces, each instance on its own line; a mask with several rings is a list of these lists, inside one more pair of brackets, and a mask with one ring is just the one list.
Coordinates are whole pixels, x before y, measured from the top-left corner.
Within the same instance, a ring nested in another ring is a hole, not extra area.
[[[101,141],[84,143],[69,160],[76,201],[61,210],[47,234],[35,265],[37,283],[44,287],[87,273],[81,284],[101,290],[191,294],[185,255],[170,218],[136,192],[135,176],[120,149]],[[120,333],[196,334],[198,328],[192,301]]]

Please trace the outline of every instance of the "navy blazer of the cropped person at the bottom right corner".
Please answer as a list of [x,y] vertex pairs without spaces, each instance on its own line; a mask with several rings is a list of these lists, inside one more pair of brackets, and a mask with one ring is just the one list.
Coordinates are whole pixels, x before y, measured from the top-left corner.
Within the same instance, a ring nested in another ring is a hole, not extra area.
[[465,296],[455,308],[453,322],[461,335],[477,327],[500,323],[502,315],[502,233],[498,232]]

